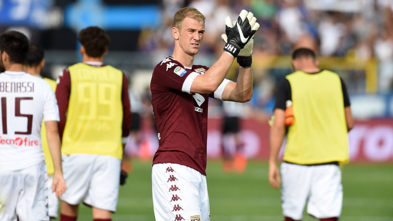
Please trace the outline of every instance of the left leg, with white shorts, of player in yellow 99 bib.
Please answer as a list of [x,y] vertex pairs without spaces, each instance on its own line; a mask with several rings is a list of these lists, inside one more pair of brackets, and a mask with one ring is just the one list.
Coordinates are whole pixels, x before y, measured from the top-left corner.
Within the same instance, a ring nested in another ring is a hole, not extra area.
[[94,158],[90,154],[62,154],[62,168],[67,191],[60,197],[60,220],[76,220],[78,205],[88,192]]

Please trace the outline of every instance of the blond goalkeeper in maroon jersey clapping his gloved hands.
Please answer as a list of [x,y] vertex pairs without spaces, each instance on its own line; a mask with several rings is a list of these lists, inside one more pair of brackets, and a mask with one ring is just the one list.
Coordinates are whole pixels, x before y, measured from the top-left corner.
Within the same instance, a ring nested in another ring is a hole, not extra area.
[[[237,102],[252,97],[252,38],[259,24],[246,10],[237,23],[228,36],[224,34],[226,46],[219,60],[207,68],[193,64],[202,44],[205,16],[191,7],[174,14],[173,54],[156,65],[150,82],[159,139],[151,174],[156,220],[210,220],[206,184],[209,96]],[[233,82],[225,76],[236,57],[242,68]]]

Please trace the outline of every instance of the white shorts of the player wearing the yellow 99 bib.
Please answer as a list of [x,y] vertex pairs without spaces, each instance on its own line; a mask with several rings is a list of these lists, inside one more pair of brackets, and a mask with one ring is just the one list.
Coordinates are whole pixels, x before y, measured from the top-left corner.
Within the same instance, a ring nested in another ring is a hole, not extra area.
[[67,191],[60,200],[71,205],[80,202],[115,212],[120,185],[121,160],[96,154],[62,154]]

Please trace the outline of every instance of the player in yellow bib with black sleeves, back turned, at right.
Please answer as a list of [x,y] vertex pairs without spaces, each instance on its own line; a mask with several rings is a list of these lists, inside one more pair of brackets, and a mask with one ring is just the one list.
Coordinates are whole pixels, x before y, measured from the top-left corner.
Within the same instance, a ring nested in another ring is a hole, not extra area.
[[[292,53],[294,73],[278,85],[270,131],[269,182],[281,187],[286,221],[301,220],[307,213],[323,221],[338,220],[342,206],[339,164],[349,160],[347,133],[354,126],[344,81],[336,73],[318,68],[314,51]],[[291,102],[288,102],[291,101]],[[285,136],[288,103],[293,121],[281,163],[277,156]]]

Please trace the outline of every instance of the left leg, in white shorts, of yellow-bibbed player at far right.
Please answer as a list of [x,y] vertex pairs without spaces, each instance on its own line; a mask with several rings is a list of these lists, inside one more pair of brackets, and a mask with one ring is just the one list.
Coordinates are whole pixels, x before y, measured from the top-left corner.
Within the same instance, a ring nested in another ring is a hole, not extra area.
[[283,162],[280,173],[282,214],[293,220],[301,220],[310,191],[310,167]]

